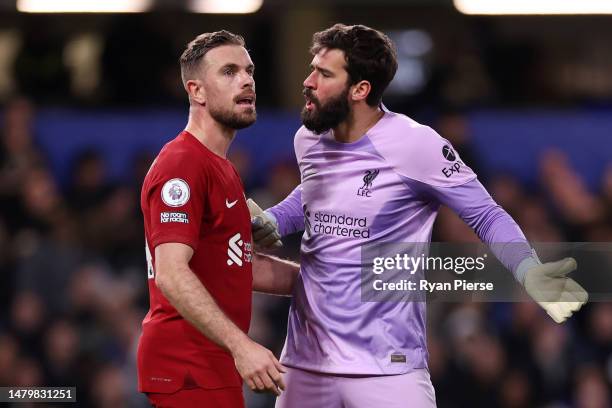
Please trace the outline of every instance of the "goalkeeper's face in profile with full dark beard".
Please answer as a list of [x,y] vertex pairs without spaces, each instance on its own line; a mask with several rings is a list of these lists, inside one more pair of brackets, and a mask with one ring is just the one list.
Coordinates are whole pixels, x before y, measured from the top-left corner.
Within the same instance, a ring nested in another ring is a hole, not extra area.
[[345,64],[343,51],[326,48],[310,64],[312,72],[304,80],[306,104],[301,116],[304,126],[317,134],[335,128],[351,112]]

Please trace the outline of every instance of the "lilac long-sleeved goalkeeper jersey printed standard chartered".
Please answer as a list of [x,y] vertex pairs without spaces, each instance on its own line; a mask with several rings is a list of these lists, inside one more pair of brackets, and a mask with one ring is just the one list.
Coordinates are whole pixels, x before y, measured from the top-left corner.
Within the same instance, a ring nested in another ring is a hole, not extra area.
[[301,184],[268,210],[281,235],[304,230],[281,358],[287,366],[362,375],[427,367],[425,303],[362,302],[361,248],[429,242],[440,204],[486,243],[524,243],[495,253],[510,270],[532,255],[451,144],[404,115],[385,112],[353,143],[302,127],[295,154]]

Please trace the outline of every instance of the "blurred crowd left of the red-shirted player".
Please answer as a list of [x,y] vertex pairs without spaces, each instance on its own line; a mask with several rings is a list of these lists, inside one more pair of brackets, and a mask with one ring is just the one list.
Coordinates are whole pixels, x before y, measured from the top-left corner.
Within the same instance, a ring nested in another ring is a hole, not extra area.
[[34,114],[25,99],[4,111],[0,383],[72,385],[80,406],[138,406],[134,355],[148,302],[138,197],[146,169],[113,185],[101,156],[85,151],[62,189],[34,142]]

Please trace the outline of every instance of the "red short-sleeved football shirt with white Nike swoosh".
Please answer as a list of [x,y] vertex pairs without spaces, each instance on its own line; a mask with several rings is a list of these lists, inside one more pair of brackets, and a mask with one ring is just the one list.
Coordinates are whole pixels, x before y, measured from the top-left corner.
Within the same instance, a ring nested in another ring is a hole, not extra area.
[[[244,189],[234,166],[188,132],[151,165],[141,192],[150,308],[138,345],[138,389],[174,392],[238,386],[232,356],[181,317],[155,284],[155,247],[193,248],[189,266],[244,332],[251,319],[252,240]],[[195,384],[194,384],[195,383]]]

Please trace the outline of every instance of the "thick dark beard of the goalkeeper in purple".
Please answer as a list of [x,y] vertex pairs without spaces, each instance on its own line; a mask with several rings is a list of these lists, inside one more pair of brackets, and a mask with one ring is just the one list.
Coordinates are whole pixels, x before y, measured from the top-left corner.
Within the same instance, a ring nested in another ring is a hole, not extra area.
[[304,94],[315,105],[315,109],[302,109],[302,123],[306,129],[313,131],[317,135],[327,132],[342,123],[351,112],[348,103],[349,87],[337,97],[331,98],[324,105],[312,94],[312,90],[305,89]]

